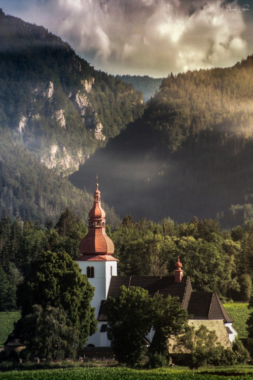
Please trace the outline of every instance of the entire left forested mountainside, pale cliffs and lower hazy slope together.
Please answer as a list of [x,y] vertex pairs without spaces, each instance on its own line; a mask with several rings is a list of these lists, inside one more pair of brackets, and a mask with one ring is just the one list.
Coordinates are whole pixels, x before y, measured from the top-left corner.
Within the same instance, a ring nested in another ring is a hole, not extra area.
[[92,197],[64,177],[142,112],[132,85],[96,71],[43,26],[0,10],[0,216],[55,222],[68,206],[86,218]]

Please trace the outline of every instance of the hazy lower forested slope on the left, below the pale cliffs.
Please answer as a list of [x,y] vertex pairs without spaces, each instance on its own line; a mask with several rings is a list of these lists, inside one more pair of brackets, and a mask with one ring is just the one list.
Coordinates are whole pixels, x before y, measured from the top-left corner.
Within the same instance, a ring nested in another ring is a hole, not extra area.
[[[1,217],[4,214],[10,217],[19,215],[23,220],[56,223],[68,207],[87,221],[92,195],[77,189],[67,178],[61,178],[41,164],[28,149],[12,139],[8,130],[2,131],[0,152]],[[107,223],[117,225],[119,217],[114,209],[105,204],[103,208]]]

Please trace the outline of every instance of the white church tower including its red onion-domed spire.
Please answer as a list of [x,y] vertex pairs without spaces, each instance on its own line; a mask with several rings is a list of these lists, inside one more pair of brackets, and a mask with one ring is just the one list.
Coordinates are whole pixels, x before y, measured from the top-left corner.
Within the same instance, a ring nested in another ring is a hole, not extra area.
[[[101,207],[98,183],[94,191],[93,207],[89,212],[88,234],[81,241],[79,250],[81,256],[77,257],[76,261],[95,288],[91,306],[95,308],[97,318],[101,301],[106,300],[111,277],[117,276],[118,261],[113,257],[114,243],[105,232],[105,212]],[[107,344],[103,345],[101,342],[99,325],[98,322],[98,331],[90,337],[89,344],[106,346]]]

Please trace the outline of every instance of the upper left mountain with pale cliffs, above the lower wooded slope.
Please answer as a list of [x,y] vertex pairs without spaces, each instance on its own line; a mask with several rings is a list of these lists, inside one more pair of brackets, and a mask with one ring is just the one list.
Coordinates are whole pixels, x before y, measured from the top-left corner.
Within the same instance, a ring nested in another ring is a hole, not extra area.
[[67,175],[143,111],[142,95],[48,32],[0,12],[0,126]]

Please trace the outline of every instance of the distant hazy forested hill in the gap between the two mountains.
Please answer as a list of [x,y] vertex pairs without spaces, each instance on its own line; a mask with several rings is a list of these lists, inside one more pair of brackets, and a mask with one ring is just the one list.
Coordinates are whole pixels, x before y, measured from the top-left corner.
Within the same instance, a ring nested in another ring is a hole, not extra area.
[[152,78],[148,75],[117,75],[125,83],[131,83],[136,91],[143,93],[143,100],[147,102],[152,96],[159,91],[163,78]]

